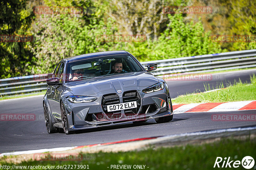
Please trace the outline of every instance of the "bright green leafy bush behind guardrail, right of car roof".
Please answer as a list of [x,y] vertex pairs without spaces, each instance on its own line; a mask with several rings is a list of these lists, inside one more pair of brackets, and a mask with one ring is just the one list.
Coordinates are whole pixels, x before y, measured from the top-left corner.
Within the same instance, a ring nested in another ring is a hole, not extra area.
[[221,48],[211,41],[210,32],[204,33],[199,21],[187,23],[181,14],[168,16],[170,23],[154,41],[127,43],[124,49],[131,52],[140,61],[162,60],[209,53],[220,53]]

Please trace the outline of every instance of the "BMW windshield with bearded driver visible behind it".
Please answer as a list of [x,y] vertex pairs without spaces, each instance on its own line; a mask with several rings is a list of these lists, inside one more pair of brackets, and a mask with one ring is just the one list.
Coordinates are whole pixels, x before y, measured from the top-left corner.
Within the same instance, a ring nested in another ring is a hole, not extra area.
[[68,63],[67,82],[98,76],[143,71],[129,55],[113,55]]

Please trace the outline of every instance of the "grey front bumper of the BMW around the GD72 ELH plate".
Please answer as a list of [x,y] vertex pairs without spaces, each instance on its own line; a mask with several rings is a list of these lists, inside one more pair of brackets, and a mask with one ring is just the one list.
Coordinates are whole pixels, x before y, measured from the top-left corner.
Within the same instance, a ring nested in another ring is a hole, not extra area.
[[[142,88],[141,88],[142,89]],[[120,113],[111,113],[108,115],[104,108],[107,104],[104,103],[103,97],[105,94],[95,94],[98,99],[90,103],[70,103],[64,101],[66,104],[66,111],[68,113],[69,130],[81,130],[95,127],[104,127],[110,125],[124,124],[128,122],[155,119],[164,116],[172,115],[171,98],[169,95],[168,87],[165,89],[153,92],[142,93],[141,89],[126,88],[123,89],[123,94],[116,94],[119,96],[120,103],[125,103],[124,94],[126,92],[137,91],[137,110],[126,112],[121,110]],[[107,94],[114,94],[116,91],[108,91]],[[93,96],[93,95],[91,95]],[[107,96],[108,97],[108,96]],[[135,100],[137,100],[135,99]],[[169,100],[168,100],[169,99]],[[134,114],[132,113],[134,112]]]

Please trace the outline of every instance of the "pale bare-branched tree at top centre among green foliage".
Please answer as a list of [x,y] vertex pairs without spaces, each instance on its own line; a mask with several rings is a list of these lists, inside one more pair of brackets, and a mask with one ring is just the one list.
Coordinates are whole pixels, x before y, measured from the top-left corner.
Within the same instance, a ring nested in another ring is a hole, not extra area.
[[166,27],[168,18],[162,12],[165,6],[162,0],[111,0],[109,6],[109,16],[124,34],[143,34],[156,40]]

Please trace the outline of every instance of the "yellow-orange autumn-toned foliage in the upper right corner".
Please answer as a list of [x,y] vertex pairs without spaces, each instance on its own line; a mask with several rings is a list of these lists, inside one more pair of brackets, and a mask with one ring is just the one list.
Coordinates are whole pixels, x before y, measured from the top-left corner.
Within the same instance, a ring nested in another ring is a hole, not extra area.
[[256,1],[250,0],[218,0],[205,1],[197,0],[192,6],[210,6],[212,13],[209,14],[188,14],[188,18],[202,17],[205,30],[211,31],[212,35],[252,36],[252,41],[219,41],[223,52],[250,50],[256,47]]

